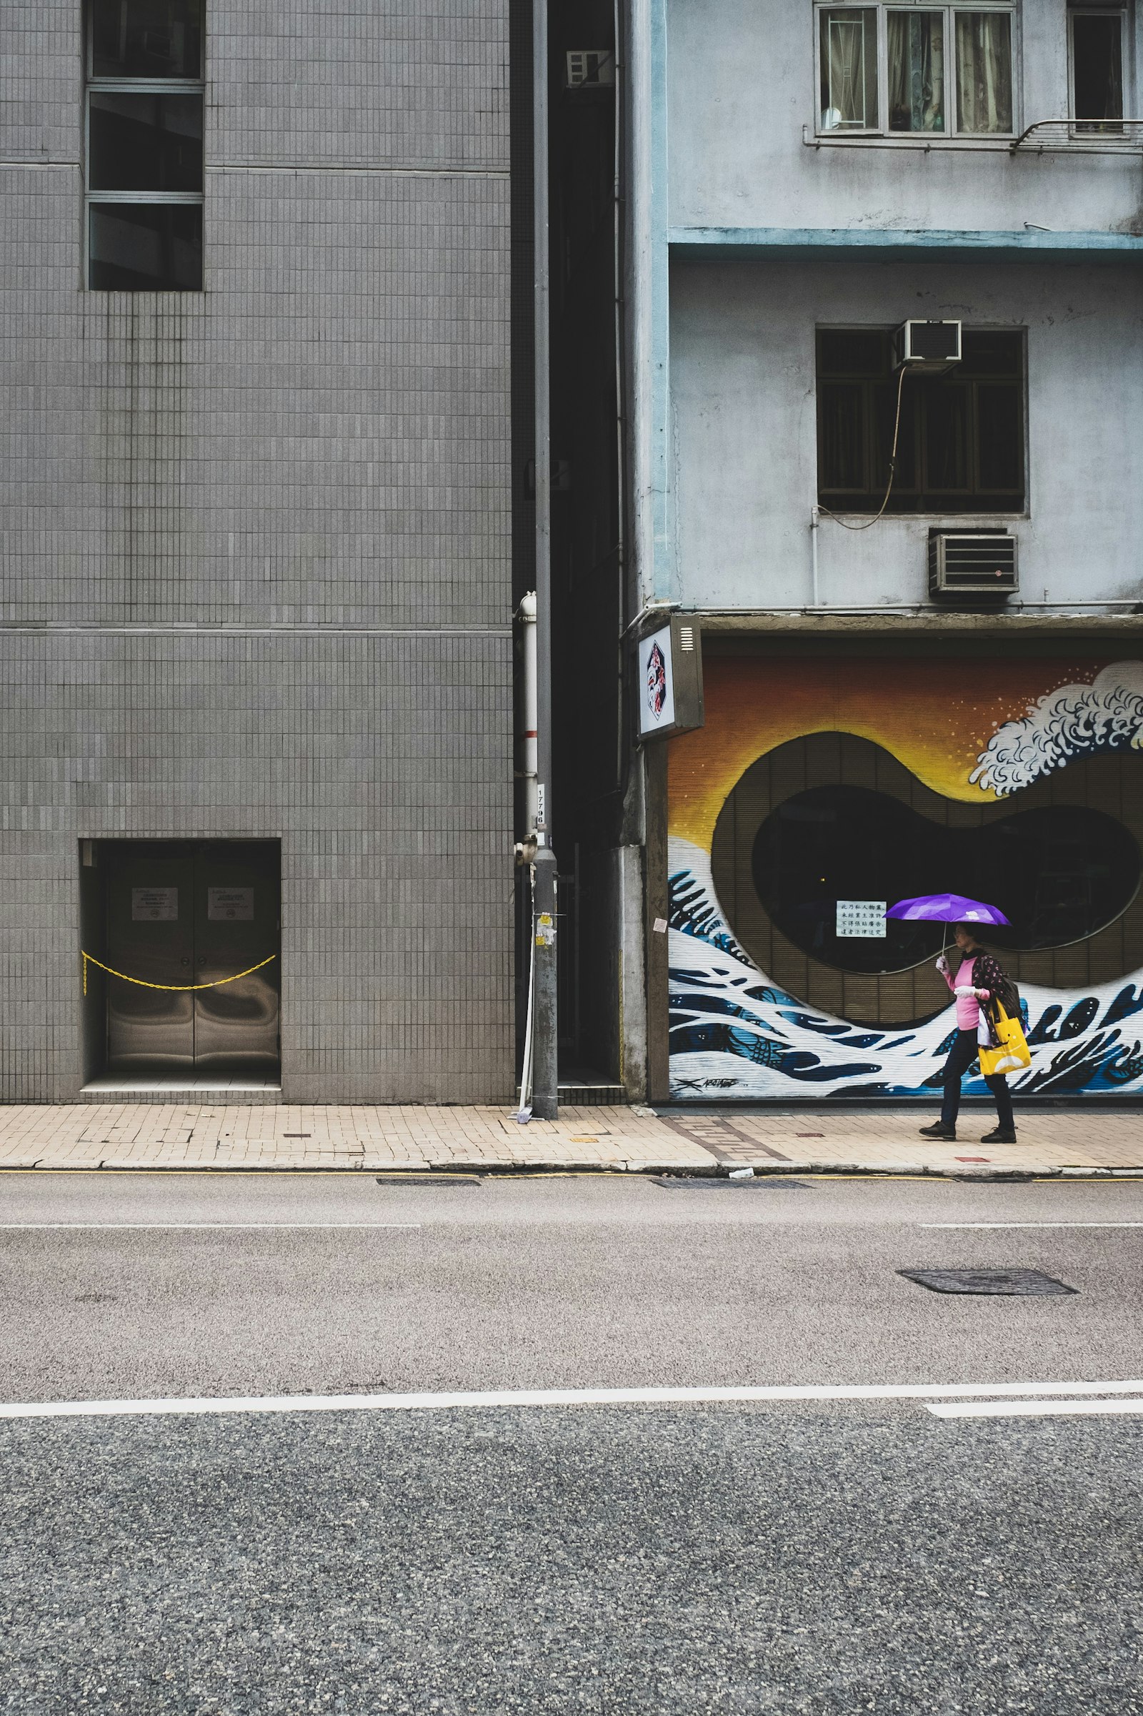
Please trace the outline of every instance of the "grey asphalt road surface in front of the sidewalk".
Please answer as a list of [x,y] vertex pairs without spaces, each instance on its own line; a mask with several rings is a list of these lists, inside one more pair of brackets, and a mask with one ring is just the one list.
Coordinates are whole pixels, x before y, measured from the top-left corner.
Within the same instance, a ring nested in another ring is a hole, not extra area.
[[[975,1222],[1143,1186],[2,1175],[0,1397],[1143,1376],[1143,1225]],[[896,1273],[978,1265],[1078,1292]],[[1131,1716],[1141,1457],[913,1400],[15,1417],[0,1709]]]

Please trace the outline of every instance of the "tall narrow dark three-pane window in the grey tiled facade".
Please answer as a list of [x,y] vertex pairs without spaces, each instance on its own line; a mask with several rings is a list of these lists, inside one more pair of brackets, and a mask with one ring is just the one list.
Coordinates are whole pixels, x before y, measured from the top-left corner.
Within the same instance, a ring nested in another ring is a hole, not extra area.
[[89,0],[88,285],[203,288],[203,0]]

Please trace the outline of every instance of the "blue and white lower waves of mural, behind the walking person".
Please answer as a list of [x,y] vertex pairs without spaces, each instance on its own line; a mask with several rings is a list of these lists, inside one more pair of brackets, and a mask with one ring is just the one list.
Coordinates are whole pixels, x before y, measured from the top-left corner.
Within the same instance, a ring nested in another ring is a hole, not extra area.
[[[777,988],[726,923],[711,856],[669,843],[671,1095],[937,1095],[956,1031],[949,1007],[927,1024],[850,1024]],[[1009,1078],[1016,1095],[1143,1093],[1143,970],[1081,994],[1021,987],[1031,1066]],[[968,1095],[987,1095],[978,1074]]]

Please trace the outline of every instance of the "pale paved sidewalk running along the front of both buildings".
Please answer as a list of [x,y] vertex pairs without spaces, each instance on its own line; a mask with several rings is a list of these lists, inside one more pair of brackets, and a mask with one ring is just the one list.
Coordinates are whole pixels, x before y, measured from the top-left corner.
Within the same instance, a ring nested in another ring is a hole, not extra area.
[[1018,1145],[961,1110],[959,1141],[918,1138],[923,1110],[693,1114],[565,1109],[520,1126],[506,1109],[69,1103],[0,1107],[0,1169],[527,1169],[1143,1174],[1143,1114],[1026,1110]]

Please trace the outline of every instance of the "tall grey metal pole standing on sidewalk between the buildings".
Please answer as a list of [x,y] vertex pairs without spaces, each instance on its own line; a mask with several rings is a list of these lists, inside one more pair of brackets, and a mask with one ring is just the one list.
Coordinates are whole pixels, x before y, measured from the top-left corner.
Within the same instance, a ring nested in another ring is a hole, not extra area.
[[547,0],[532,0],[532,220],[535,240],[535,772],[532,870],[532,1114],[559,1112],[556,1012],[556,855],[551,848],[551,321],[547,295]]

